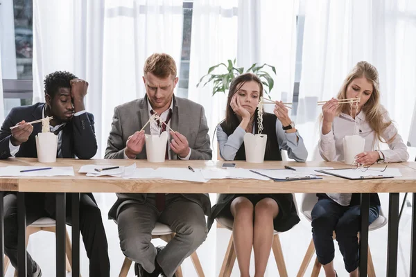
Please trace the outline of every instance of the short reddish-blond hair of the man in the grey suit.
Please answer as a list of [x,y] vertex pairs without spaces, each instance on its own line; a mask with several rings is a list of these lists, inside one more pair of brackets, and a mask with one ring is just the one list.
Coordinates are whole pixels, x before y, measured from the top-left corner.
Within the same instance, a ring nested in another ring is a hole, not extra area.
[[152,73],[159,78],[168,78],[172,75],[172,78],[176,78],[177,69],[175,60],[173,57],[166,53],[153,53],[144,62],[144,75],[146,73]]

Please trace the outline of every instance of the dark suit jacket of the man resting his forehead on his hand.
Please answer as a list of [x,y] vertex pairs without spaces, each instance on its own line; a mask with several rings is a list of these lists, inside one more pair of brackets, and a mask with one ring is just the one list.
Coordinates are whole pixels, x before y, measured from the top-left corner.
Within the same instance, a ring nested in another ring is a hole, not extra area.
[[[15,126],[21,120],[30,122],[42,118],[44,103],[32,106],[13,108],[1,125],[0,129],[0,159],[10,157],[10,127]],[[37,133],[42,132],[42,124],[33,125],[33,132],[28,141],[20,145],[15,157],[37,158],[36,140]],[[91,159],[97,152],[97,141],[94,131],[94,116],[89,113],[73,116],[72,120],[62,129],[62,157],[79,159]],[[88,194],[94,200],[91,193]],[[45,203],[46,211],[55,211],[55,194],[49,193]]]

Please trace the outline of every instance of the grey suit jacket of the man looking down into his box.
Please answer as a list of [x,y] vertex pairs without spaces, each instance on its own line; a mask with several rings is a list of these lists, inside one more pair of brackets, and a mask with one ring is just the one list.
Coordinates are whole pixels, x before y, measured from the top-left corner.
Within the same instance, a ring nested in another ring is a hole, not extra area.
[[[147,96],[114,108],[112,129],[107,141],[105,159],[124,159],[124,149],[128,137],[146,124],[149,120],[148,114]],[[187,138],[189,148],[191,148],[190,160],[210,160],[212,158],[207,118],[201,105],[191,100],[173,96],[171,127]],[[150,134],[149,125],[144,130],[146,134]],[[172,150],[171,157],[172,159],[179,159]],[[147,159],[146,145],[137,154],[137,159]],[[211,202],[208,194],[182,194],[182,196],[199,204],[205,215],[211,213]],[[113,220],[116,220],[118,211],[124,204],[146,201],[146,193],[117,193],[117,197],[116,203],[108,213],[110,219]]]

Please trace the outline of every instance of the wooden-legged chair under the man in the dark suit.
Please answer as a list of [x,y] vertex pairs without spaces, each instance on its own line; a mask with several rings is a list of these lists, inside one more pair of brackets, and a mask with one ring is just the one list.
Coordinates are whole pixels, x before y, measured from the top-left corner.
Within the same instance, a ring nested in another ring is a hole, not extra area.
[[[30,235],[39,231],[48,231],[56,233],[55,220],[49,217],[42,217],[36,220],[31,225],[26,227],[26,247],[28,246]],[[66,251],[67,251],[67,271],[71,272],[72,269],[72,244],[69,239],[68,231],[66,231]],[[4,257],[4,272],[7,271],[10,260],[7,256]],[[15,269],[15,276],[17,276],[17,269]]]

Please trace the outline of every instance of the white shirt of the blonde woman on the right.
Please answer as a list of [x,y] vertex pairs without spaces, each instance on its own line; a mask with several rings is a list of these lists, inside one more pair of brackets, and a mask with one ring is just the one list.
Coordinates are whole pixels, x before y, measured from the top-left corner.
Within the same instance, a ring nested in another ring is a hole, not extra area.
[[[381,106],[380,120],[390,121],[388,111]],[[356,121],[356,122],[355,122]],[[355,129],[354,129],[355,128]],[[365,139],[364,151],[370,152],[379,150],[380,142],[376,138],[374,130],[367,122],[365,113],[361,111],[357,114],[356,120],[349,114],[340,114],[333,119],[331,132],[322,134],[320,130],[320,141],[318,148],[322,159],[325,161],[344,161],[343,138],[358,134]],[[407,147],[397,132],[395,125],[391,124],[381,134],[384,141],[387,141],[389,150],[381,150],[386,163],[407,161],[409,154]],[[394,137],[394,139],[392,139]],[[327,195],[340,205],[348,206],[351,201],[351,193],[327,193]]]

